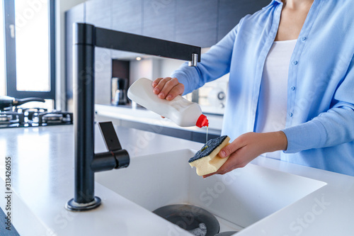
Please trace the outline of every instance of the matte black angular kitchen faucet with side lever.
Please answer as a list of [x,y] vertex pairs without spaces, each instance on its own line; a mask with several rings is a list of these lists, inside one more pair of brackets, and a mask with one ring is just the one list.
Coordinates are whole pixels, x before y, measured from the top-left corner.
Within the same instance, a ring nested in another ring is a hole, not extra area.
[[86,23],[74,26],[74,198],[67,202],[68,210],[90,210],[100,206],[94,195],[94,173],[127,167],[129,154],[122,150],[112,123],[99,123],[108,152],[94,152],[94,64],[95,47],[139,52],[200,62],[200,47],[142,35],[98,28]]

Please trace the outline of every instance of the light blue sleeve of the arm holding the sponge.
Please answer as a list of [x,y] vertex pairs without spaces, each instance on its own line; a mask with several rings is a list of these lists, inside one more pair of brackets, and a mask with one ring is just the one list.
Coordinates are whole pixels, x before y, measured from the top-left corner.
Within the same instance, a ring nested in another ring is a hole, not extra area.
[[287,136],[285,153],[331,147],[354,140],[354,57],[346,77],[333,96],[334,105],[307,123],[282,130]]

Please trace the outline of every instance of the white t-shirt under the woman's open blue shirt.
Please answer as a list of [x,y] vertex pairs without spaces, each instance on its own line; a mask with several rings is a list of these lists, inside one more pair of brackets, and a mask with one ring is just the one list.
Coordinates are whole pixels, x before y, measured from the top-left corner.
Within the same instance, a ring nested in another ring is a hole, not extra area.
[[[256,132],[265,133],[285,128],[287,116],[287,74],[297,40],[275,41],[265,59],[258,101]],[[265,157],[280,159],[280,152]]]

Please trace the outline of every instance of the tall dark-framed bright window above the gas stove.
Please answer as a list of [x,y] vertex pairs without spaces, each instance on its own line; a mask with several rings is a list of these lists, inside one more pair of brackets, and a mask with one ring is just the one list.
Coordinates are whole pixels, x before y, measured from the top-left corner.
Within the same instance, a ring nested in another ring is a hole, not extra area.
[[55,2],[1,1],[5,10],[6,94],[50,99],[54,108]]

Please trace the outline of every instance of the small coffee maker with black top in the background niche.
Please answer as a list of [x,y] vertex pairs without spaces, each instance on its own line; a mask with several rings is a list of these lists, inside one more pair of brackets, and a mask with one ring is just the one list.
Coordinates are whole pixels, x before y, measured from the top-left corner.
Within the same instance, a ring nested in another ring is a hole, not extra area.
[[112,78],[112,94],[111,94],[111,103],[115,106],[126,105],[128,103],[127,99],[127,87],[128,79],[125,78]]

